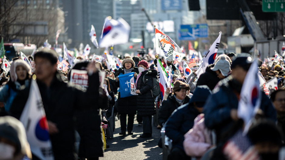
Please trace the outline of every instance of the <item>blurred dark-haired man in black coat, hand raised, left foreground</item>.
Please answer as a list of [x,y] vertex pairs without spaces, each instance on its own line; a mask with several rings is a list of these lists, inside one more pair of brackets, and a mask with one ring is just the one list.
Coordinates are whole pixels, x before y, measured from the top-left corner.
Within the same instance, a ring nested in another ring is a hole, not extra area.
[[[99,97],[99,74],[94,62],[86,68],[89,74],[89,87],[83,92],[64,83],[57,72],[57,53],[54,50],[43,49],[36,52],[35,75],[42,96],[46,118],[48,120],[49,135],[55,160],[75,159],[74,142],[75,128],[73,115],[75,109],[95,107]],[[100,130],[101,122],[98,123]],[[98,142],[102,146],[102,141]],[[101,151],[98,157],[103,156]]]

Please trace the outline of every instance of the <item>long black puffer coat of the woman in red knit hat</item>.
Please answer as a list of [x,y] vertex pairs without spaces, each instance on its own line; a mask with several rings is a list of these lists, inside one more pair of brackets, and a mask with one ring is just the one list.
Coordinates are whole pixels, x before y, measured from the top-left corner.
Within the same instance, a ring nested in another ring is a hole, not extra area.
[[[145,75],[145,76],[144,76]],[[143,76],[144,81],[143,82]],[[146,70],[142,72],[136,84],[136,89],[140,91],[141,94],[137,95],[137,106],[139,116],[154,115],[155,111],[155,97],[151,93],[153,88],[153,78],[157,78],[156,70]]]

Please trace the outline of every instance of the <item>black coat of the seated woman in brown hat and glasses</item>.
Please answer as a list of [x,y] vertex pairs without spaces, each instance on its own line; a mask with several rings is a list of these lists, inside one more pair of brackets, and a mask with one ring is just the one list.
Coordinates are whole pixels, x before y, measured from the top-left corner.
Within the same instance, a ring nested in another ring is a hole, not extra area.
[[[190,98],[188,96],[185,97],[183,105],[188,103]],[[163,123],[167,121],[170,115],[173,113],[175,109],[177,109],[180,104],[176,101],[176,98],[173,94],[169,94],[167,99],[164,100],[159,108],[158,113],[158,124],[163,126]]]

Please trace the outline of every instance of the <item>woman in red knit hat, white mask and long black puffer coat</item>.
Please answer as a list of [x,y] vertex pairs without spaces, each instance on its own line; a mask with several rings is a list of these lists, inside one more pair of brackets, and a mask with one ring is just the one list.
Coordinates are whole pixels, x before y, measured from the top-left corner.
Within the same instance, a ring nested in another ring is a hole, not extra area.
[[152,126],[151,117],[155,111],[155,97],[153,97],[151,89],[153,88],[153,77],[157,78],[156,70],[147,70],[148,63],[142,60],[138,64],[139,75],[136,81],[137,107],[138,116],[143,118],[143,134],[139,137],[151,137]]

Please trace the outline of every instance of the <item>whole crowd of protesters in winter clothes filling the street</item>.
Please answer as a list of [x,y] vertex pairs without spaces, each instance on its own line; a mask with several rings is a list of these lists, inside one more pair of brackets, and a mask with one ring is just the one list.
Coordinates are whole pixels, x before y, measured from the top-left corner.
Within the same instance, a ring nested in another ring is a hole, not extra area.
[[[199,78],[195,68],[188,78],[183,77],[183,71],[173,64],[172,55],[165,61],[161,58],[162,66],[169,68],[172,85],[158,97],[152,92],[153,82],[158,79],[158,60],[148,55],[126,56],[121,60],[122,68],[117,70],[108,70],[106,60],[92,62],[78,56],[78,62],[62,72],[57,67],[58,54],[43,49],[29,57],[35,62],[35,73],[23,59],[15,57],[8,74],[3,70],[1,73],[0,159],[39,159],[29,150],[24,128],[18,121],[29,98],[33,75],[42,97],[56,160],[102,157],[102,134],[106,139],[113,138],[118,120],[119,135],[133,135],[136,117],[139,125],[143,125],[140,138],[150,138],[152,116],[156,112],[157,128],[164,128],[171,139],[168,159],[200,159],[208,151],[212,151],[210,159],[248,159],[249,155],[255,155],[252,159],[280,159],[285,133],[284,64],[276,60],[269,66],[268,62],[258,60],[264,81],[276,77],[278,87],[270,88],[270,94],[260,88],[260,109],[243,135],[245,124],[237,109],[243,82],[253,62],[249,57],[234,53],[219,55]],[[72,69],[88,72],[87,88],[68,83]],[[102,85],[99,72],[105,73]],[[118,76],[132,72],[137,95],[121,97]],[[159,106],[155,105],[155,99]],[[104,132],[102,123],[107,125]],[[80,141],[75,150],[77,133]],[[112,146],[106,144],[106,147]],[[229,147],[236,150],[233,152]]]

